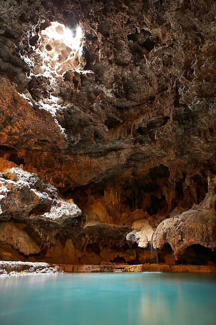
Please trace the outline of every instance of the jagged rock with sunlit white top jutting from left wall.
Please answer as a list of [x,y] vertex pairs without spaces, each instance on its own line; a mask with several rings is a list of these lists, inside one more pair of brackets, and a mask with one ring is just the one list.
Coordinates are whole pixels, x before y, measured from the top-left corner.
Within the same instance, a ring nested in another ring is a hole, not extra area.
[[61,199],[52,184],[21,168],[5,170],[0,174],[0,183],[1,217],[61,223],[81,213],[73,201]]

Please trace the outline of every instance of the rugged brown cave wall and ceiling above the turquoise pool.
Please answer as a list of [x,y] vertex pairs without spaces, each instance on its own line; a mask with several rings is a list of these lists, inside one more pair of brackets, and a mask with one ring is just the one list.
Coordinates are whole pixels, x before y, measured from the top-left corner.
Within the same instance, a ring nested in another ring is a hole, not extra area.
[[0,11],[0,258],[214,264],[215,2]]

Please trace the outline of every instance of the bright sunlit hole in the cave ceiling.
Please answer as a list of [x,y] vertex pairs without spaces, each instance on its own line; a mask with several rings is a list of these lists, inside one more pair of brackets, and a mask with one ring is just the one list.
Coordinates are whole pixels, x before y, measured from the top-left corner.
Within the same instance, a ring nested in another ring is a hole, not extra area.
[[56,74],[77,68],[78,54],[82,47],[83,32],[78,26],[73,33],[69,28],[56,21],[40,32],[41,50],[44,56],[44,65]]

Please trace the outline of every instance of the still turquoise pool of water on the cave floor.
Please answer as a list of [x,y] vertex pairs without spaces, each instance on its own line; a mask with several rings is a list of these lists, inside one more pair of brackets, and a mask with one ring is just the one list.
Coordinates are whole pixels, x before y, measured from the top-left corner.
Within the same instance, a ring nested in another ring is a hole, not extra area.
[[65,273],[0,277],[1,325],[216,324],[216,275]]

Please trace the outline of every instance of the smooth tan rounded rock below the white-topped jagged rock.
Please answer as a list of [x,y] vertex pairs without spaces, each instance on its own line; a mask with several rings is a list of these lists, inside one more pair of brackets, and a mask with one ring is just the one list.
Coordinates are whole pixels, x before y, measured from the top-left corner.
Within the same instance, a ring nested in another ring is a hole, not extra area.
[[13,222],[0,224],[0,241],[12,245],[25,255],[38,254],[41,251],[34,240],[25,231],[17,228]]

